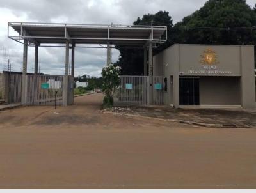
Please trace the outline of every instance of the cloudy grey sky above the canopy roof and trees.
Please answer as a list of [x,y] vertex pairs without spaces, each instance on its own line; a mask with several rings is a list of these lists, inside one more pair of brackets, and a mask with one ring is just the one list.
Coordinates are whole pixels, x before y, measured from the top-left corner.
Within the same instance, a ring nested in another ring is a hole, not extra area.
[[[137,17],[143,14],[156,13],[159,10],[170,12],[175,22],[181,20],[184,16],[198,10],[203,6],[205,0],[8,0],[0,1],[2,8],[12,10],[12,13],[20,16],[27,15],[28,20],[37,20],[40,22],[50,22],[61,20],[61,22],[82,22],[88,24],[131,24]],[[255,0],[247,0],[247,3],[253,6]]]

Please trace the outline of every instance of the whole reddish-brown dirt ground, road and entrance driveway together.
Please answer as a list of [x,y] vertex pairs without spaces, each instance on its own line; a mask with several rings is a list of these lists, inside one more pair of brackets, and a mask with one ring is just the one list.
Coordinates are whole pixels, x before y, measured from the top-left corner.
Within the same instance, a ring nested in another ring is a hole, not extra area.
[[1,188],[256,188],[256,130],[203,128],[76,105],[0,112]]

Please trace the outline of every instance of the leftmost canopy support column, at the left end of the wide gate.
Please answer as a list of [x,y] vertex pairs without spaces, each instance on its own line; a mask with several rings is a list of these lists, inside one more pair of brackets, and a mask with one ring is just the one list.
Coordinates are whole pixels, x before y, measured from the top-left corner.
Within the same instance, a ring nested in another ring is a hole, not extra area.
[[22,69],[22,88],[21,104],[27,105],[27,67],[28,67],[28,40],[24,39],[23,45],[23,69]]

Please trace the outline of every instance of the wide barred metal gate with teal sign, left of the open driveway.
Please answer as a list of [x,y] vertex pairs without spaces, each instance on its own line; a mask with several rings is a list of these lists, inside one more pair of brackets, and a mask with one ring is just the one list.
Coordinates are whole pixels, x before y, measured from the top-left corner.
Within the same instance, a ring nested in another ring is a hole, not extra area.
[[28,105],[54,105],[57,92],[57,105],[63,104],[63,76],[28,75]]

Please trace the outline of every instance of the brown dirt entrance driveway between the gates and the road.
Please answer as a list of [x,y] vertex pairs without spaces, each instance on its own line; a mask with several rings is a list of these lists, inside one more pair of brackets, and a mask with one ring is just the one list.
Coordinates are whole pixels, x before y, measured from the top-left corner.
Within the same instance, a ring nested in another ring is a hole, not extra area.
[[[10,109],[0,112],[0,128],[6,127],[84,127],[84,128],[124,128],[124,123],[129,125],[143,125],[139,118],[120,118],[110,114],[101,113],[104,95],[102,93],[79,96],[74,100],[74,105],[59,106],[26,106],[19,109]],[[157,123],[156,123],[157,122]],[[131,123],[131,124],[130,124]],[[145,128],[159,125],[160,121],[147,121]],[[151,125],[150,125],[151,124]],[[170,123],[164,123],[170,125]],[[184,127],[179,123],[175,127]],[[134,126],[135,127],[135,126]],[[189,126],[188,126],[189,127]]]

